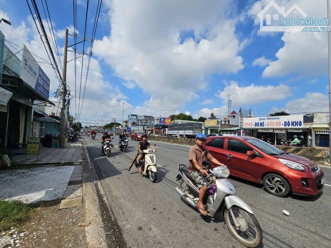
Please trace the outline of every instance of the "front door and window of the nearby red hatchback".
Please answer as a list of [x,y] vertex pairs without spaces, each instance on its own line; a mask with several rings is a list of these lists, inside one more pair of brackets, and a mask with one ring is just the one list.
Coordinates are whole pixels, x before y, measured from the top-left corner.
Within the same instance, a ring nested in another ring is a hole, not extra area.
[[226,154],[232,155],[229,169],[232,175],[256,181],[259,170],[259,157],[246,155],[254,150],[251,146],[238,139],[228,138]]

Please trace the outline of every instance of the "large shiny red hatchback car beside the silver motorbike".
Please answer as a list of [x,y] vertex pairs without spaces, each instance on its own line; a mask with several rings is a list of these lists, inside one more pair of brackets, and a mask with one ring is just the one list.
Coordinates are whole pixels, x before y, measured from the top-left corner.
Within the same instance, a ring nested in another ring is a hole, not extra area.
[[270,194],[285,197],[292,192],[312,196],[323,190],[324,173],[315,162],[286,153],[263,140],[248,136],[213,136],[207,137],[206,148],[225,165],[232,156],[231,175],[262,183]]

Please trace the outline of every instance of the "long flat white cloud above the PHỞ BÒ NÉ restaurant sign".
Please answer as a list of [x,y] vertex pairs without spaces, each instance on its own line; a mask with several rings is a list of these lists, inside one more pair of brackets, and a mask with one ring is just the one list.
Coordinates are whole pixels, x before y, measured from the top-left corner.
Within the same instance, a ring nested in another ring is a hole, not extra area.
[[219,97],[226,102],[228,94],[232,100],[232,105],[241,106],[245,104],[255,104],[267,101],[281,100],[291,95],[290,87],[284,84],[274,85],[254,85],[240,86],[238,82],[231,81],[219,93]]

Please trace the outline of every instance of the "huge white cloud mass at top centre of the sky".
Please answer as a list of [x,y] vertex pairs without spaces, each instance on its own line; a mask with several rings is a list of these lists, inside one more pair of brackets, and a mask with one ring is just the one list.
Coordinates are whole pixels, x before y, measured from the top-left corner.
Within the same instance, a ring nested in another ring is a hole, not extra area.
[[[235,21],[226,17],[229,0],[107,4],[111,35],[95,41],[94,51],[117,76],[151,95],[137,111],[154,106],[151,114],[173,114],[198,97],[195,92],[207,87],[210,74],[244,68]],[[181,40],[187,31],[194,37]]]

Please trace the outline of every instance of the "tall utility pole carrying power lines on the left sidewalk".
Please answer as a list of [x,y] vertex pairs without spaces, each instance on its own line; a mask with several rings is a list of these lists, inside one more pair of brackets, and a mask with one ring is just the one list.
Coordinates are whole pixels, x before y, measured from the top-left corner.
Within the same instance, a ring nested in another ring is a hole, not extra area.
[[[61,132],[60,132],[60,143],[61,148],[65,147],[65,126],[66,126],[66,118],[65,118],[65,108],[66,108],[66,93],[67,93],[67,50],[68,50],[68,29],[66,29],[66,34],[64,38],[64,53],[63,53],[63,75],[62,75],[62,92],[61,92]],[[68,105],[69,107],[69,105]]]

